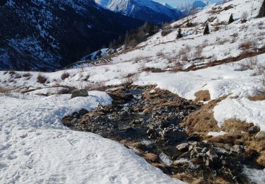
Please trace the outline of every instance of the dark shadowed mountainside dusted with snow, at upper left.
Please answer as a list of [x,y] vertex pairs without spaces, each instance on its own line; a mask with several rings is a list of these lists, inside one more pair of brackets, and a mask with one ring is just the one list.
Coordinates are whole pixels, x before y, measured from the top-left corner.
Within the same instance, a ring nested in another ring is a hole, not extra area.
[[7,1],[0,5],[0,69],[54,70],[142,21],[93,0]]

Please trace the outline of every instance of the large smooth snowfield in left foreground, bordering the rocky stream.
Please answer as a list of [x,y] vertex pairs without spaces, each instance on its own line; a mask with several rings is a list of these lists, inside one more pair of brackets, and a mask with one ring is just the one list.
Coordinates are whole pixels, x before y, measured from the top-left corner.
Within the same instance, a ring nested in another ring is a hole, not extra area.
[[89,94],[1,96],[0,183],[182,183],[121,144],[64,127],[64,115],[112,101],[104,92]]

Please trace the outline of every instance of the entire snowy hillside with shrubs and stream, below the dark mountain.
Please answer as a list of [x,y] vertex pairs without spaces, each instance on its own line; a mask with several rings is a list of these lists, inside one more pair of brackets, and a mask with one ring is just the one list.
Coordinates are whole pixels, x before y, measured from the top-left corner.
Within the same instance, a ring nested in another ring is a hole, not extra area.
[[69,69],[0,71],[0,181],[265,183],[262,4],[210,4]]

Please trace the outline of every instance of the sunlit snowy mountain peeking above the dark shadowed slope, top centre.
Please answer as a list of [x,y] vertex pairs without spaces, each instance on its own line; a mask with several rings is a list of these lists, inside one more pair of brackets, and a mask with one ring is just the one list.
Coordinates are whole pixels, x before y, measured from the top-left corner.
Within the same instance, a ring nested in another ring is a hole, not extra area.
[[170,22],[182,16],[179,10],[150,0],[95,0],[95,2],[111,11],[157,24]]

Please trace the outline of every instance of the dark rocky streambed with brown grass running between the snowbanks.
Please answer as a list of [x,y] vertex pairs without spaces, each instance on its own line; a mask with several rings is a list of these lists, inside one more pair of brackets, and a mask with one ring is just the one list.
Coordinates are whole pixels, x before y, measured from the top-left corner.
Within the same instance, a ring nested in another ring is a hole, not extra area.
[[64,125],[121,142],[164,173],[188,183],[252,183],[242,169],[260,168],[257,151],[187,134],[189,127],[182,122],[202,104],[154,86],[119,86],[107,92],[112,105],[75,112],[63,118]]

